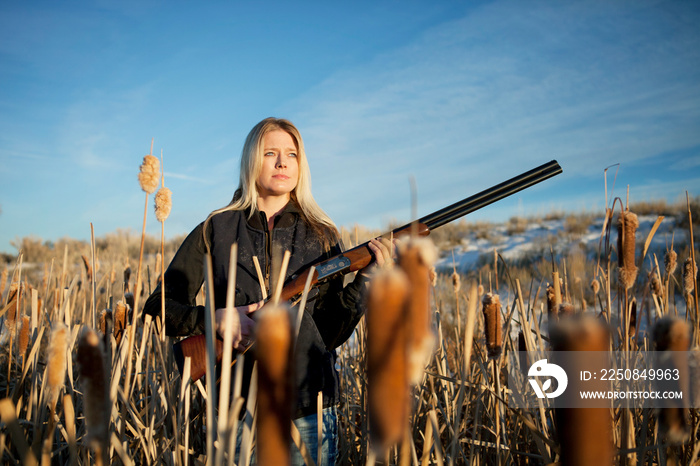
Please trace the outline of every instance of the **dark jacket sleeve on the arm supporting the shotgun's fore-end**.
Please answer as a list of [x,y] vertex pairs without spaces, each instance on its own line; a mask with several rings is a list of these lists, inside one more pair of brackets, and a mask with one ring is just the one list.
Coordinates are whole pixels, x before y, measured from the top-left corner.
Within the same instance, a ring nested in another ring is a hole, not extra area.
[[[340,251],[339,246],[337,251]],[[358,273],[346,286],[344,278],[339,276],[321,285],[314,307],[316,327],[330,350],[350,338],[365,313],[364,290],[367,278]]]

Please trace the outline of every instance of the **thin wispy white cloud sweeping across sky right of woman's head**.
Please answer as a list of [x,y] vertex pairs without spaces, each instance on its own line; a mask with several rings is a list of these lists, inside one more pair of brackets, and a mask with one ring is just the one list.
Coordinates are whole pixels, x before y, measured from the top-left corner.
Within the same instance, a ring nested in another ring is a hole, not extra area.
[[700,145],[700,36],[663,8],[495,2],[338,71],[289,105],[317,197],[347,218],[348,192],[406,203],[410,174],[433,204],[553,158],[597,180]]

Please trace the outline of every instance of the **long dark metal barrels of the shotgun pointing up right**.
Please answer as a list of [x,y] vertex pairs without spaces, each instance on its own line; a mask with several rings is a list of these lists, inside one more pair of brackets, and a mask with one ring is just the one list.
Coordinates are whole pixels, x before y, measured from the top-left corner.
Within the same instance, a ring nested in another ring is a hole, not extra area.
[[533,168],[523,174],[515,176],[509,180],[504,181],[496,186],[489,189],[481,191],[473,196],[463,199],[459,202],[455,202],[443,209],[433,212],[430,215],[418,220],[419,223],[425,224],[429,229],[450,223],[460,217],[463,217],[475,210],[479,210],[482,207],[486,207],[504,197],[508,197],[512,194],[522,191],[532,185],[540,183],[548,178],[558,175],[562,172],[561,166],[556,160],[540,165],[539,167]]

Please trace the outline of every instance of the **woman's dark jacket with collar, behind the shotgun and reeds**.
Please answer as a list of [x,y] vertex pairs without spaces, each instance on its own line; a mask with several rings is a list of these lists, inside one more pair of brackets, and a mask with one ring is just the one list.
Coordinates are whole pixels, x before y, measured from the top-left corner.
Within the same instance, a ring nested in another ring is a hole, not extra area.
[[[294,202],[275,217],[272,232],[264,212],[226,211],[214,215],[207,224],[210,241],[214,302],[226,306],[231,245],[238,244],[235,306],[262,300],[260,282],[253,262],[257,256],[269,287],[274,275],[271,257],[288,250],[291,253],[285,281],[310,265],[341,252],[340,244],[324,251],[321,239],[303,220]],[[165,329],[170,336],[204,333],[204,307],[195,305],[195,296],[204,281],[203,261],[206,246],[202,235],[204,223],[185,239],[165,272]],[[278,251],[278,253],[273,252]],[[295,417],[316,412],[318,392],[323,392],[324,407],[338,402],[338,374],[335,349],[347,340],[363,314],[362,285],[356,279],[343,287],[343,277],[331,279],[309,293],[301,322],[295,353],[297,406]],[[268,292],[268,295],[270,293]],[[159,316],[160,285],[145,304],[145,312]],[[247,395],[253,366],[252,351],[246,353],[243,396]]]

